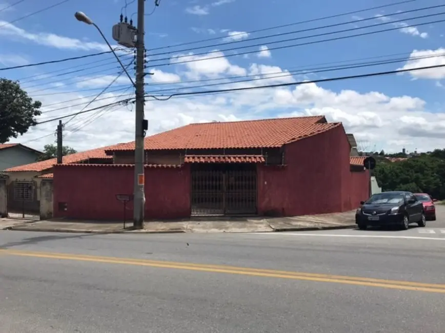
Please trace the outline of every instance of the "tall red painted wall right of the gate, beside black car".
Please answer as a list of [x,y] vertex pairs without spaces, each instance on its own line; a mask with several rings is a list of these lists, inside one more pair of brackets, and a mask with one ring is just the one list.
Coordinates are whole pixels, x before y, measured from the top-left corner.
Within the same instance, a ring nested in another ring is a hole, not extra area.
[[287,144],[286,166],[258,165],[258,213],[298,216],[354,209],[368,182],[365,172],[350,172],[349,155],[343,127]]

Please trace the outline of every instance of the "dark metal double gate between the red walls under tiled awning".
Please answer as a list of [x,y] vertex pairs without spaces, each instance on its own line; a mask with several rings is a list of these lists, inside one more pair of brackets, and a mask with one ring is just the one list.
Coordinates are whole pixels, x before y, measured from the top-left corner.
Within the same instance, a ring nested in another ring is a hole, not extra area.
[[256,164],[194,164],[192,215],[256,214]]

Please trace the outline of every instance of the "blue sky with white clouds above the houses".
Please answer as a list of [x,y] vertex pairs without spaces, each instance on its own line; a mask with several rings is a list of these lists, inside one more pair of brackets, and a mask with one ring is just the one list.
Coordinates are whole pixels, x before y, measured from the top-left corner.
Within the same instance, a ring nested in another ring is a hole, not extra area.
[[[2,70],[108,51],[93,26],[75,19],[83,11],[118,47],[134,77],[133,50],[117,45],[112,27],[121,13],[136,25],[137,1],[65,0],[43,10],[60,2],[0,0],[0,77],[19,80],[42,102],[37,121],[134,96],[110,53]],[[311,82],[445,65],[443,2],[411,0],[368,10],[398,2],[161,0],[156,7],[146,0],[148,135],[193,122],[325,115],[342,122],[362,150],[445,148],[445,68]],[[165,101],[149,97],[280,84],[292,85]],[[77,151],[134,139],[131,102],[63,121],[64,145]],[[42,150],[54,143],[57,122],[38,124],[10,142]]]

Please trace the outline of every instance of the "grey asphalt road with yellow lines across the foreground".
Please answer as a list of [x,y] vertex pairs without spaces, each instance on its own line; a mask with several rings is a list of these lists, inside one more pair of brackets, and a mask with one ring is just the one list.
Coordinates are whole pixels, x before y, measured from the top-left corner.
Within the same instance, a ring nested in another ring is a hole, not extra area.
[[443,333],[441,230],[2,231],[0,332]]

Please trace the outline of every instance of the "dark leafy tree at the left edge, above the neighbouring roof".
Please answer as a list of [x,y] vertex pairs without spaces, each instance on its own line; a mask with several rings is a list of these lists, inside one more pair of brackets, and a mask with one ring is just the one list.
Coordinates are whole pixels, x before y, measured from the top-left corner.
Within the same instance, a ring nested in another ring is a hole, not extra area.
[[42,103],[33,101],[17,81],[0,78],[0,143],[25,134],[36,124]]

